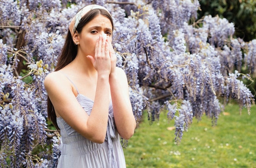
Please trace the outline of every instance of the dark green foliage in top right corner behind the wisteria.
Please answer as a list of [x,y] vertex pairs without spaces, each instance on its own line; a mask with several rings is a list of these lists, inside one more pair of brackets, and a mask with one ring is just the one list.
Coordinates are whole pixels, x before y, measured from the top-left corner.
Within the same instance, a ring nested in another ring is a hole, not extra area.
[[201,0],[199,18],[206,15],[226,18],[236,27],[235,36],[245,41],[256,38],[255,0]]

